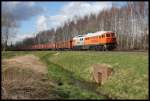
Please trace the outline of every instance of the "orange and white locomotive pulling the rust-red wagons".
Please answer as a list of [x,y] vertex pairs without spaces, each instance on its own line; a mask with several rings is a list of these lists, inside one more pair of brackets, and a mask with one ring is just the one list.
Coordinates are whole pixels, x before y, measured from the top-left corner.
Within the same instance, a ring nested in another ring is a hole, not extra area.
[[112,31],[98,31],[73,38],[74,49],[112,50],[116,46],[116,36]]

